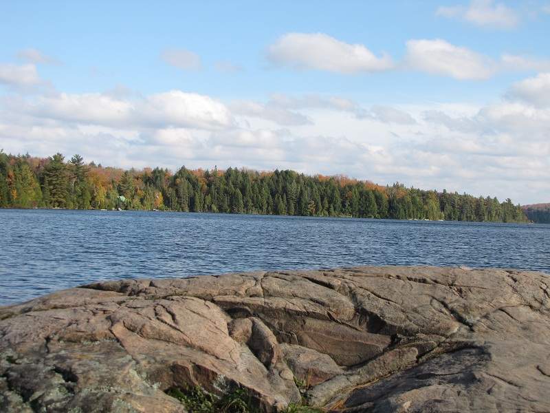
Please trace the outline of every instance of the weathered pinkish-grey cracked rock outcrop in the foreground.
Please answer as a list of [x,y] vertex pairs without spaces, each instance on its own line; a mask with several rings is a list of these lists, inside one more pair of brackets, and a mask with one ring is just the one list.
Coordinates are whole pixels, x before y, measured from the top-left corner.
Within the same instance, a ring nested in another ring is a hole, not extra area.
[[[550,278],[362,267],[63,290],[0,308],[0,411],[183,412],[247,388],[265,412],[550,411]],[[80,409],[80,410],[79,410]]]

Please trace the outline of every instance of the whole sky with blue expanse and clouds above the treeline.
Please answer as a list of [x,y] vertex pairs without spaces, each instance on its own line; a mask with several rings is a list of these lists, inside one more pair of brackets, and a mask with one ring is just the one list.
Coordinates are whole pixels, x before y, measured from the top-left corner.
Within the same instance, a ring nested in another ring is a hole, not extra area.
[[550,202],[550,0],[0,0],[0,149]]

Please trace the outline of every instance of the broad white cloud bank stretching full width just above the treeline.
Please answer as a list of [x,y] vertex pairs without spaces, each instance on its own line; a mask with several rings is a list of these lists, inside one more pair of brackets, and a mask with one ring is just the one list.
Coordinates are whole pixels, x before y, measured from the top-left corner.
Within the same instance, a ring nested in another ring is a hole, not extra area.
[[[121,167],[347,173],[523,203],[542,202],[550,191],[550,109],[522,100],[386,107],[342,96],[277,94],[245,102],[250,107],[244,110],[178,90],[122,92],[4,96],[2,146],[37,156],[81,153]],[[284,129],[273,124],[281,119],[262,123],[261,116],[275,118],[266,108],[309,122]]]

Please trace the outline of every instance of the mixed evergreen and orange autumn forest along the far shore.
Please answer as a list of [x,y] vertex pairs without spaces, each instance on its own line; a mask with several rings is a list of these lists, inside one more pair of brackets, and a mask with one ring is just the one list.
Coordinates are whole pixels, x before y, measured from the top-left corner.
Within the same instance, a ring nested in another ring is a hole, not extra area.
[[345,176],[258,172],[130,169],[86,164],[75,155],[50,158],[0,151],[0,207],[159,209],[170,211],[527,222],[511,200],[380,186]]

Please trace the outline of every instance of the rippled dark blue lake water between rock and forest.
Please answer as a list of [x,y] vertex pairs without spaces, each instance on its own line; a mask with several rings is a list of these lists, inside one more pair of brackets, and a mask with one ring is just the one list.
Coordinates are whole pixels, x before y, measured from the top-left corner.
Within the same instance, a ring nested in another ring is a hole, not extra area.
[[550,225],[0,209],[0,305],[104,279],[429,264],[550,273]]

